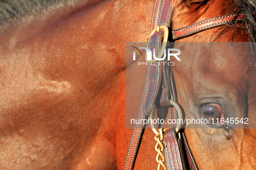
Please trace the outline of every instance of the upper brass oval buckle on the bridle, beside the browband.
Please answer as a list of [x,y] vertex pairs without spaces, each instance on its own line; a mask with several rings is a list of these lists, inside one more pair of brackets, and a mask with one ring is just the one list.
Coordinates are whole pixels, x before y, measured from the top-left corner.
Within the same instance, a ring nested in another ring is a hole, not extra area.
[[[155,32],[158,32],[159,30],[164,30],[164,38],[163,38],[163,43],[162,43],[162,47],[161,47],[161,51],[160,53],[158,54],[158,56],[156,58],[162,58],[164,52],[165,52],[165,48],[166,48],[166,44],[167,44],[167,41],[168,41],[168,36],[169,36],[169,29],[167,26],[165,25],[162,25],[162,26],[156,26],[155,29],[152,30],[152,32],[150,33],[149,35],[149,39],[150,37],[155,33]],[[148,45],[149,45],[149,42],[148,42]],[[147,45],[147,47],[148,47]],[[157,62],[158,60],[156,59],[152,59],[152,60],[147,60],[147,54],[145,54],[145,60],[146,60],[146,63],[155,63]]]

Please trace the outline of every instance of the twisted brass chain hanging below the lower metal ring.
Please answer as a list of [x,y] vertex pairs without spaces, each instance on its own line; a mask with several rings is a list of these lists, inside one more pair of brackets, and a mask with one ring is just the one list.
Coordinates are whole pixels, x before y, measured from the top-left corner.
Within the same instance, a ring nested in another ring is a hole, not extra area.
[[[160,128],[158,129],[159,133],[156,134],[155,136],[155,140],[156,140],[156,146],[155,146],[155,150],[157,151],[157,155],[156,155],[156,161],[158,163],[158,167],[157,170],[160,170],[161,166],[167,170],[164,162],[165,162],[165,156],[162,154],[162,151],[164,151],[164,145],[162,144],[162,140],[164,139],[164,135],[163,132],[165,132],[168,129],[163,129]],[[159,147],[160,146],[160,147]],[[160,158],[160,159],[159,159]]]

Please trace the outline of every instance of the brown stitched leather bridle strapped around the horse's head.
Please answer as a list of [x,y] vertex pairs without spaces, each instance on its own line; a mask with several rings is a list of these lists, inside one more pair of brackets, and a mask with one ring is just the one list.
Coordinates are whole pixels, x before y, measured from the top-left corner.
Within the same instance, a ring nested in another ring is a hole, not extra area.
[[[153,15],[152,15],[152,23],[151,23],[151,31],[155,28],[158,28],[158,31],[154,32],[152,36],[148,39],[148,47],[155,48],[158,52],[159,43],[163,37],[163,30],[161,30],[158,25],[165,26],[170,28],[171,19],[172,19],[172,4],[171,0],[156,0]],[[205,31],[207,29],[215,28],[221,25],[226,25],[227,22],[239,22],[241,19],[244,19],[245,16],[243,14],[231,14],[226,16],[219,16],[212,19],[207,19],[202,22],[195,23],[193,25],[189,25],[184,28],[180,28],[172,31],[173,40],[178,40],[181,38],[186,38],[188,36],[197,34],[201,31]],[[150,81],[150,80],[156,81]],[[161,85],[161,87],[160,87]],[[156,101],[156,96],[159,91],[162,91],[161,98],[159,101]],[[170,102],[171,101],[171,102]],[[177,101],[175,82],[172,72],[171,66],[159,65],[152,66],[148,65],[147,68],[147,76],[145,80],[143,97],[141,100],[139,113],[137,119],[146,119],[150,114],[154,114],[156,107],[155,103],[158,104],[158,108],[160,107],[168,107],[169,115],[171,119],[177,118],[177,106],[175,103]],[[174,102],[174,103],[173,103]],[[174,109],[175,107],[175,109]],[[167,110],[167,112],[168,112]],[[185,170],[185,159],[183,156],[183,148],[181,143],[181,135],[178,134],[179,138],[177,138],[175,128],[177,124],[172,124],[172,129],[159,129],[159,133],[156,134],[156,138],[158,139],[157,146],[161,147],[158,149],[158,157],[157,160],[159,163],[158,169],[161,166],[164,169],[168,170]],[[136,124],[133,130],[133,135],[130,141],[128,153],[126,156],[126,162],[124,166],[124,170],[132,170],[136,153],[138,150],[139,142],[142,137],[143,132],[143,124]],[[164,135],[162,133],[164,132]],[[157,132],[155,132],[157,133]],[[187,154],[187,161],[189,163],[189,167],[191,170],[198,170],[196,162],[194,161],[194,157],[189,148],[185,133],[182,133],[185,151]],[[162,143],[164,145],[162,145]],[[165,146],[165,148],[163,147]],[[156,147],[157,148],[157,147]],[[163,157],[162,151],[164,150],[165,157]],[[161,157],[161,159],[159,159]],[[163,164],[164,160],[166,161],[166,167]]]

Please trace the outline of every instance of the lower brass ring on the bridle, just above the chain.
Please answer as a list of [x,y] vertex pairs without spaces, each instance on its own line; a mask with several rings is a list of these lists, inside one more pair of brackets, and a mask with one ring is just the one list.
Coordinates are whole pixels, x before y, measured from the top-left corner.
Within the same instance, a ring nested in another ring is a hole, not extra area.
[[[170,103],[171,103],[171,104],[175,107],[175,109],[177,110],[178,119],[179,119],[179,120],[183,120],[182,111],[181,111],[181,108],[179,107],[179,105],[178,105],[175,101],[173,101],[173,100],[170,100]],[[152,128],[152,131],[157,135],[157,134],[159,133],[159,131],[156,129],[156,126],[155,126],[154,123],[153,123],[153,118],[154,118],[154,116],[155,116],[156,110],[157,110],[157,108],[156,108],[156,105],[155,105],[155,106],[153,107],[153,109],[152,109],[150,115],[149,115],[149,119],[151,120],[150,126],[151,126],[151,128]],[[179,123],[177,124],[177,127],[176,127],[176,133],[178,133],[178,131],[181,129],[181,126],[182,126],[181,121],[177,121],[177,122],[179,122]],[[166,130],[167,130],[167,129],[166,129]],[[164,130],[164,131],[166,131],[166,130]]]

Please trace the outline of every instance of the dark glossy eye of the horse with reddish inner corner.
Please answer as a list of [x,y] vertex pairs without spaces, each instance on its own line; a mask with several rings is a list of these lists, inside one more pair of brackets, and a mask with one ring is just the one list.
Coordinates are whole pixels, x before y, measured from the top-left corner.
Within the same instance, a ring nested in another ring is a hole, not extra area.
[[211,123],[220,121],[222,110],[217,104],[205,104],[200,107],[201,116]]

